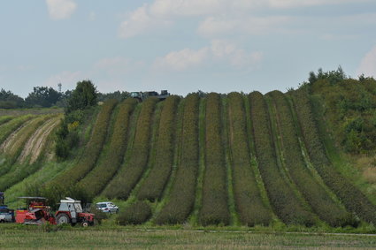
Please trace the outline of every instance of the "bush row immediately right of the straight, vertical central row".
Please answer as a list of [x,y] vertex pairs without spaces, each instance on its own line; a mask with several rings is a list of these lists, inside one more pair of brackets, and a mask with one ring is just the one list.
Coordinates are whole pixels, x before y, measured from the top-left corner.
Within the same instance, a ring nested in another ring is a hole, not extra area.
[[249,165],[248,134],[242,95],[239,93],[229,94],[228,103],[236,210],[242,223],[248,226],[268,225],[272,220],[272,213],[263,204],[256,178]]

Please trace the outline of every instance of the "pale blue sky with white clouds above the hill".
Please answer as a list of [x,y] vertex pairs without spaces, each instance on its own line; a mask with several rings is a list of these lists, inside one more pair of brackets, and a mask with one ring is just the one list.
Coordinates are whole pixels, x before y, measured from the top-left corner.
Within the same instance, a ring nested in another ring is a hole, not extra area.
[[282,92],[376,77],[375,0],[1,0],[0,88]]

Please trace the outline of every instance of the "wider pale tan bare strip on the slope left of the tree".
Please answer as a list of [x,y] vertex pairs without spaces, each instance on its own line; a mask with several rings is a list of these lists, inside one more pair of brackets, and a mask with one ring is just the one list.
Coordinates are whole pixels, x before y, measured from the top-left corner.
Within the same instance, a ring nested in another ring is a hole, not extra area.
[[35,163],[42,152],[42,146],[46,142],[48,135],[59,124],[59,121],[60,117],[50,118],[33,133],[19,155],[19,163],[25,163],[29,155],[31,155],[29,163]]

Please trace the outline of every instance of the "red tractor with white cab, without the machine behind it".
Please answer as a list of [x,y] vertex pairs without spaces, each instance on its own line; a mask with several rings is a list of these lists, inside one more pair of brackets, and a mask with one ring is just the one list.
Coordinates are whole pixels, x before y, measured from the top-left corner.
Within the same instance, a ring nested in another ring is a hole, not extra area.
[[65,197],[65,200],[60,200],[60,206],[55,217],[58,224],[82,223],[83,226],[88,226],[94,223],[94,214],[83,213],[81,201],[76,201],[69,197]]

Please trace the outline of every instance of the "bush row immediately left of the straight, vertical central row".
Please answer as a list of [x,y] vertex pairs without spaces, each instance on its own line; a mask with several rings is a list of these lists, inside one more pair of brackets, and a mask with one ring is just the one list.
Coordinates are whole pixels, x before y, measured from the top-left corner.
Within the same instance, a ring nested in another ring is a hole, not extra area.
[[180,164],[176,170],[170,199],[157,216],[156,222],[159,224],[184,223],[195,203],[199,100],[198,95],[192,94],[186,97],[184,103]]

